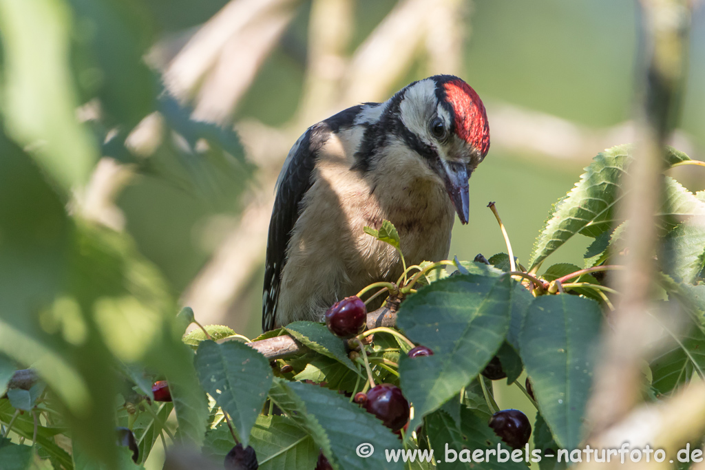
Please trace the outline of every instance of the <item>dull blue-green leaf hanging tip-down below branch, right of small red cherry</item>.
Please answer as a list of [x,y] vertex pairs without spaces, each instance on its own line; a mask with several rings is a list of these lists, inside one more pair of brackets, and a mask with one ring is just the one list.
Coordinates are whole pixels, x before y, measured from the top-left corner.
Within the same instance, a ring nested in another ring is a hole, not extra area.
[[195,364],[202,387],[231,416],[247,446],[250,429],[271,387],[269,361],[240,342],[204,341],[198,346]]

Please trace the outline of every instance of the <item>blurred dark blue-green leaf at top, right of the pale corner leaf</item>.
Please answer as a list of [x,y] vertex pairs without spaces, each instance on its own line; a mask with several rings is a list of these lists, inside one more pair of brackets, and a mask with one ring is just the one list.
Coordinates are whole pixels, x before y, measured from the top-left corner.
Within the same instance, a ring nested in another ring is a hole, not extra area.
[[75,76],[84,101],[133,128],[154,111],[157,79],[143,56],[152,44],[147,11],[133,0],[68,0],[73,8]]

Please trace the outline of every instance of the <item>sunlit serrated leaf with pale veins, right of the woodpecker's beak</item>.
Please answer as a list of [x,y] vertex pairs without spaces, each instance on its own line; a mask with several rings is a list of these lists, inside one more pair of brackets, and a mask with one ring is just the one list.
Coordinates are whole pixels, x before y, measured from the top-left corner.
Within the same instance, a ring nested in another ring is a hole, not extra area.
[[[631,160],[631,149],[630,145],[619,145],[597,154],[575,187],[553,205],[534,244],[529,269],[541,264],[576,233],[598,237],[616,225],[614,209],[623,197],[620,182]],[[670,147],[666,151],[667,163],[687,158]]]

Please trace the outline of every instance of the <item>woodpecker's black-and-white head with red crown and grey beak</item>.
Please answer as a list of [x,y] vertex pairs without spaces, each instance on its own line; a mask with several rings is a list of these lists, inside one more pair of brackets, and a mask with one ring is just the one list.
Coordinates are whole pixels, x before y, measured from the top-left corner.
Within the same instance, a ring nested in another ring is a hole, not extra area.
[[429,177],[443,185],[462,223],[470,213],[468,180],[489,150],[489,125],[482,100],[453,75],[414,82],[388,101],[396,132]]

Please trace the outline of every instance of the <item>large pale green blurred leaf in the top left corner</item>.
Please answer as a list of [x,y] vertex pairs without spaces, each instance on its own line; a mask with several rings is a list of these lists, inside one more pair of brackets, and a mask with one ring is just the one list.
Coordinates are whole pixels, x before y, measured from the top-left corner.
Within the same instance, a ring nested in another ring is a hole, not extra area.
[[61,0],[3,0],[0,34],[6,129],[68,192],[86,182],[98,156],[75,115],[70,12]]

